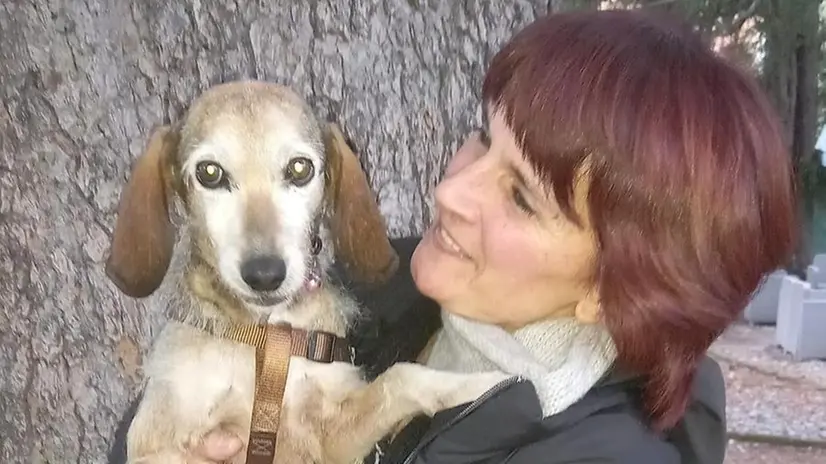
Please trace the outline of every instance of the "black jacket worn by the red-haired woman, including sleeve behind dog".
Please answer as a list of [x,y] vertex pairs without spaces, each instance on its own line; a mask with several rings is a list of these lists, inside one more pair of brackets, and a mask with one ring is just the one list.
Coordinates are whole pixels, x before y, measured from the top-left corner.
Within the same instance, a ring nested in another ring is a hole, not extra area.
[[[409,262],[417,238],[394,241],[401,265],[380,288],[337,277],[365,306],[351,334],[356,362],[374,378],[398,361],[416,358],[439,328],[438,306],[416,290]],[[418,418],[382,444],[381,464],[722,464],[726,446],[725,386],[710,358],[696,376],[684,419],[659,436],[639,404],[640,379],[610,371],[565,411],[542,418],[528,381],[508,381],[479,400]],[[110,462],[124,462],[123,445],[134,405],[117,432]],[[366,462],[372,462],[370,460]]]

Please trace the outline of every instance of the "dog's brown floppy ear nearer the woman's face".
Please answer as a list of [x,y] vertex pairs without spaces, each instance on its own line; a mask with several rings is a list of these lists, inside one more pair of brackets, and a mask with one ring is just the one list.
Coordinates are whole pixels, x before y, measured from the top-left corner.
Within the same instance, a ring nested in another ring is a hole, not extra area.
[[373,191],[358,157],[336,124],[324,127],[327,204],[336,256],[349,277],[379,284],[395,274],[399,257],[387,237]]

